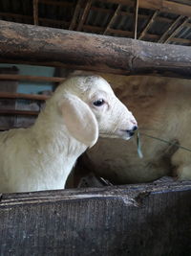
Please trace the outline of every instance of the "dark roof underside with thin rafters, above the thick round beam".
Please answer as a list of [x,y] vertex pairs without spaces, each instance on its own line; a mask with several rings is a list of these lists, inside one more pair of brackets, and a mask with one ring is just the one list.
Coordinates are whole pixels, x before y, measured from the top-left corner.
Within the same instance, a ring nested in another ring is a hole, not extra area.
[[0,19],[99,35],[191,45],[190,0],[137,1],[0,0]]

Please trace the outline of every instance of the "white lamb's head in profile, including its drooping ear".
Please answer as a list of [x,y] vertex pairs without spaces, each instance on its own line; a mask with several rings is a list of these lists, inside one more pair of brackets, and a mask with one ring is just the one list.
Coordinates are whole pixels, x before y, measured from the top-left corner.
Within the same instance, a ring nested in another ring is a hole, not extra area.
[[95,145],[98,135],[128,140],[138,128],[133,114],[99,76],[72,77],[54,95],[69,132],[87,147]]

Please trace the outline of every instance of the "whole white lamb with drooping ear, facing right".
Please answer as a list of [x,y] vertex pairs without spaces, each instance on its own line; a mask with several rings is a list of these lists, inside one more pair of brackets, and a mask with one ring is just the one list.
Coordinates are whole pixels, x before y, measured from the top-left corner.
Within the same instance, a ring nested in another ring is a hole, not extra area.
[[63,189],[77,157],[98,135],[129,139],[137,122],[99,76],[57,87],[31,128],[0,134],[0,192]]

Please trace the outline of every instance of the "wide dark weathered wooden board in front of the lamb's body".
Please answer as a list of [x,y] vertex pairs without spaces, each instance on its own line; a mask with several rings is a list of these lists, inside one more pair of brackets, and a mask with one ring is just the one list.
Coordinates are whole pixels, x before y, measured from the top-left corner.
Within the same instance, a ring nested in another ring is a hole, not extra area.
[[2,195],[7,255],[191,255],[191,182]]

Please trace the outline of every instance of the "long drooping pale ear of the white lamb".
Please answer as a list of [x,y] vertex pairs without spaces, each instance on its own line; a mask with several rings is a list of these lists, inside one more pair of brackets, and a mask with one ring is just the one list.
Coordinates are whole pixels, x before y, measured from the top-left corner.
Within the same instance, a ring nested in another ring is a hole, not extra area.
[[71,135],[87,147],[93,147],[98,139],[98,125],[89,105],[69,94],[59,102],[59,109]]

